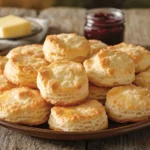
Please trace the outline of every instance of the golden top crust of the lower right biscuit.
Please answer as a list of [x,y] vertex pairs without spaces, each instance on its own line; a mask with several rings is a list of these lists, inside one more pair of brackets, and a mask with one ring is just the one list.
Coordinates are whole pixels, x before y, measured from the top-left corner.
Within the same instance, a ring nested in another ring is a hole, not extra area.
[[150,109],[150,90],[134,85],[114,87],[107,93],[107,105],[126,111]]

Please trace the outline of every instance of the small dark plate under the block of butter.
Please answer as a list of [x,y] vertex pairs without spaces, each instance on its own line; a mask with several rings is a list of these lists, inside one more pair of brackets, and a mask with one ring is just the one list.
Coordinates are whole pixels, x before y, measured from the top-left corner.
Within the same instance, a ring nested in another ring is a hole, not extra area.
[[42,27],[40,26],[40,24],[38,24],[37,22],[32,21],[32,20],[29,20],[29,22],[31,23],[31,33],[30,34],[24,35],[24,36],[18,36],[18,37],[11,37],[11,38],[0,38],[0,40],[19,40],[19,39],[23,39],[23,38],[27,38],[27,37],[36,35],[42,31]]

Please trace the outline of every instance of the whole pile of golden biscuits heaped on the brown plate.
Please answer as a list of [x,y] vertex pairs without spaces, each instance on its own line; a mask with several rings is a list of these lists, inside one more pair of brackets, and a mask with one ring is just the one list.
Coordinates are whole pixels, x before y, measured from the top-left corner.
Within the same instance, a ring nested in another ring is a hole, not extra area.
[[149,67],[141,46],[49,35],[1,57],[0,119],[73,132],[149,119]]

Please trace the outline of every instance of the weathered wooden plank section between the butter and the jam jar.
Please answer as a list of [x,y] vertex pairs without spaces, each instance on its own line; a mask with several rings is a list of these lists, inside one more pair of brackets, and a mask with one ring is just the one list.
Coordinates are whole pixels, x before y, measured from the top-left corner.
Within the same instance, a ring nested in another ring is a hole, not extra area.
[[50,7],[39,13],[39,18],[49,20],[49,34],[75,32],[83,34],[85,15],[84,8]]

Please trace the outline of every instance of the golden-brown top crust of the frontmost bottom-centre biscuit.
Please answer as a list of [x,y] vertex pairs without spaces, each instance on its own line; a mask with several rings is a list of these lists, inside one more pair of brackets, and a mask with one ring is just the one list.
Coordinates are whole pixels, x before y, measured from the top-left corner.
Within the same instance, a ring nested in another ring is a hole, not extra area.
[[73,121],[78,122],[82,119],[90,119],[97,118],[98,116],[102,116],[105,109],[97,100],[89,100],[83,104],[72,107],[59,107],[54,106],[51,109],[51,113],[53,116],[59,121],[63,120],[65,122]]

